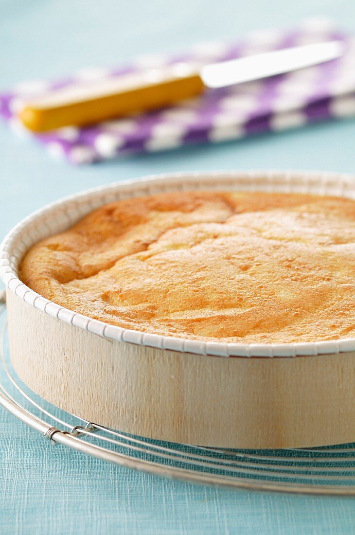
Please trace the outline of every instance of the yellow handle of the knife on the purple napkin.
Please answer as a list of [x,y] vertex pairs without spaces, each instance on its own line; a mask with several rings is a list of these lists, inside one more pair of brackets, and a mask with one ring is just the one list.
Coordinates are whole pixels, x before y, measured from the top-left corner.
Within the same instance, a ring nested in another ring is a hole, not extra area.
[[[112,80],[111,80],[112,82]],[[111,84],[112,86],[112,84]],[[114,86],[114,85],[113,85]],[[119,86],[118,86],[119,87]],[[165,77],[160,82],[144,83],[132,88],[86,91],[71,96],[65,90],[28,103],[20,112],[22,123],[33,132],[47,132],[64,126],[85,126],[119,118],[130,113],[154,110],[199,95],[204,84],[196,72],[183,77]],[[78,93],[78,91],[77,91]]]

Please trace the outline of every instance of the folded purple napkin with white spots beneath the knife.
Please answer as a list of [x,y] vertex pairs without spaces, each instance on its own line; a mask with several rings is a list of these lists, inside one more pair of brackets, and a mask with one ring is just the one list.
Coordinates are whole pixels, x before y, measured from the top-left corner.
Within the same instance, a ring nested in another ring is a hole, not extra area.
[[[56,82],[21,83],[0,95],[0,114],[16,131],[24,133],[16,111],[26,98],[50,93],[78,80],[106,79],[189,60],[202,66],[330,39],[346,42],[347,48],[341,58],[328,63],[265,80],[208,90],[198,98],[163,110],[86,128],[60,128],[35,137],[53,156],[83,164],[190,143],[240,139],[321,119],[351,116],[355,114],[355,39],[339,34],[324,20],[306,21],[288,32],[252,33],[237,43],[200,44],[180,56],[141,57],[125,68],[80,71]],[[33,135],[28,131],[26,134]]]

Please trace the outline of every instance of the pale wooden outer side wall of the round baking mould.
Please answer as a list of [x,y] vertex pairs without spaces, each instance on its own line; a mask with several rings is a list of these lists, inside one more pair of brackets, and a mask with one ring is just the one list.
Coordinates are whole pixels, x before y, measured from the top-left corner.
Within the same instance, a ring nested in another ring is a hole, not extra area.
[[89,421],[204,446],[285,448],[355,439],[355,353],[223,358],[99,337],[7,291],[20,378]]

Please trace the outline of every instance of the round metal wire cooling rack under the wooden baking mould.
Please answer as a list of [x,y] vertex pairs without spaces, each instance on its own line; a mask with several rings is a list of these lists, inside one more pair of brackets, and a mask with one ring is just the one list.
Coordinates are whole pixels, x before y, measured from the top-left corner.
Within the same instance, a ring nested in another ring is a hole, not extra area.
[[355,495],[355,444],[322,448],[242,450],[160,442],[107,429],[59,410],[21,383],[7,344],[0,294],[0,404],[61,444],[101,460],[189,483],[244,490]]

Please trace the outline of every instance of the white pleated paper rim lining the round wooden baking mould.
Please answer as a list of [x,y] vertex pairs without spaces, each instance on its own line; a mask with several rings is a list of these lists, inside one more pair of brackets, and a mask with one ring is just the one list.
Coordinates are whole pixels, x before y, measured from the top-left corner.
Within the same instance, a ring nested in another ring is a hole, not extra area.
[[200,341],[128,330],[76,314],[33,292],[18,278],[18,265],[37,241],[64,231],[103,204],[157,193],[196,189],[309,193],[355,199],[355,176],[314,171],[215,171],[150,175],[85,190],[47,204],[22,219],[0,245],[0,276],[14,294],[45,314],[104,338],[222,357],[296,357],[355,351],[355,338],[282,344]]

